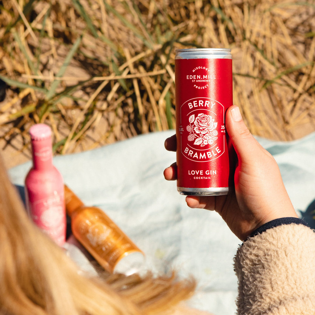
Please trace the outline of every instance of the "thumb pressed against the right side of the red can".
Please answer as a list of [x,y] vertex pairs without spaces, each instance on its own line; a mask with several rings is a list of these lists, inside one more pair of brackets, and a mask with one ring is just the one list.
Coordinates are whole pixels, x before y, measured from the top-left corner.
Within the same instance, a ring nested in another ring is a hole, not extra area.
[[226,131],[232,140],[239,160],[246,162],[255,153],[262,150],[261,145],[246,127],[238,106],[231,106],[226,111]]

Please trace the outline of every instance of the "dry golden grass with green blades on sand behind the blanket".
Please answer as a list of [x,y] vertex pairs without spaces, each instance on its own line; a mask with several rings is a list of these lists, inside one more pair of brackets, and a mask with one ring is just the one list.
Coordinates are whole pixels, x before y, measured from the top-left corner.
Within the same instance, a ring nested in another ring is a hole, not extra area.
[[231,48],[234,103],[276,140],[315,130],[315,1],[0,1],[0,139],[93,149],[175,127],[175,49]]

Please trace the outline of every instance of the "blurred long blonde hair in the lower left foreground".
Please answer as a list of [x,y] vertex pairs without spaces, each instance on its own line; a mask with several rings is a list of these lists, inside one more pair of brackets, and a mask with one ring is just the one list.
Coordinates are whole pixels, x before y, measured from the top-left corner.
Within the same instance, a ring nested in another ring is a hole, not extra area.
[[191,296],[195,282],[171,276],[80,275],[29,220],[0,157],[0,313],[151,314]]

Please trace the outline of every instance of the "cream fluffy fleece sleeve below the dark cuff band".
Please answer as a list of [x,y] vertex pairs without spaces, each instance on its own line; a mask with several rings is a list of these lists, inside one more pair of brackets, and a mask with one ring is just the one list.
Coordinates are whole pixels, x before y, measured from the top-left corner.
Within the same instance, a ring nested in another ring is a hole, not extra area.
[[315,233],[281,225],[249,238],[234,258],[238,315],[315,314]]

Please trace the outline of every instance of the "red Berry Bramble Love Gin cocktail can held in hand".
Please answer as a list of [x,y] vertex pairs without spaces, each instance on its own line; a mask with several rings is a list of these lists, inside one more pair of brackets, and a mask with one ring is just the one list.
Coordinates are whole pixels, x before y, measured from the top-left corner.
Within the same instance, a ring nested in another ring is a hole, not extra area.
[[177,190],[226,195],[235,152],[225,130],[232,106],[231,49],[178,49],[175,55]]

